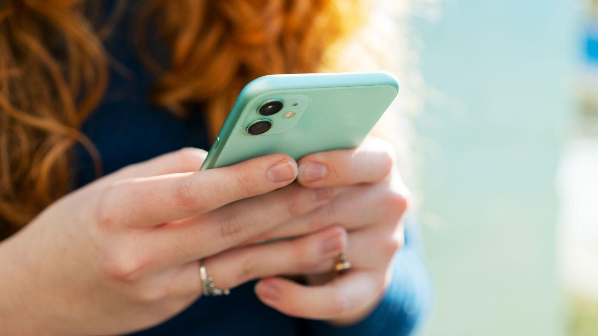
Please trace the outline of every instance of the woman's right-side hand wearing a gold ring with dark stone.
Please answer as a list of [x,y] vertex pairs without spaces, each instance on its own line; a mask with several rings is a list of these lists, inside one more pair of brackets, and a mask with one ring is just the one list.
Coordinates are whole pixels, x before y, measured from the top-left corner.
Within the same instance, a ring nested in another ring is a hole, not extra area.
[[343,225],[349,231],[347,274],[330,272],[334,261],[322,262],[311,286],[283,278],[256,286],[261,301],[282,313],[349,325],[377,307],[390,281],[390,262],[403,243],[401,216],[409,194],[394,165],[388,142],[368,138],[356,150],[319,152],[299,161],[298,182],[308,188],[335,187],[335,199],[292,219],[259,239],[291,237]]

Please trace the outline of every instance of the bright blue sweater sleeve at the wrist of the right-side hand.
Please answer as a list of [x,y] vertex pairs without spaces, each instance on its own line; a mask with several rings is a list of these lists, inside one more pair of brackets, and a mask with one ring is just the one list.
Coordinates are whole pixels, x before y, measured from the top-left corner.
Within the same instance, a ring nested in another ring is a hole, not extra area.
[[313,336],[403,336],[424,320],[431,306],[431,282],[423,258],[419,227],[405,225],[405,246],[393,258],[393,277],[380,305],[356,325],[337,327],[308,320]]

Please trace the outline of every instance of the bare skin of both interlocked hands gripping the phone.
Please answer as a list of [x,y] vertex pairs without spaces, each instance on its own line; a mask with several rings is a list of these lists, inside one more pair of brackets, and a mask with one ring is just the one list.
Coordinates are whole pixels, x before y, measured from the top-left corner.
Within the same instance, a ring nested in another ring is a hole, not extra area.
[[[274,154],[197,172],[205,151],[182,149],[125,167],[0,243],[0,325],[11,335],[148,328],[202,295],[199,259],[220,288],[263,279],[258,297],[282,313],[358,322],[382,297],[402,244],[408,194],[392,151],[370,138],[298,164]],[[252,244],[279,237],[294,238]],[[333,277],[341,251],[353,267]]]

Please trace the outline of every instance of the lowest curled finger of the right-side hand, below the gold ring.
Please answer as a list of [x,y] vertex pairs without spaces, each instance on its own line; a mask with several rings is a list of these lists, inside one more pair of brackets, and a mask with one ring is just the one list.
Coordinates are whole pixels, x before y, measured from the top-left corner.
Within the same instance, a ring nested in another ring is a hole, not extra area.
[[255,286],[258,298],[283,314],[305,319],[338,319],[376,303],[384,274],[352,272],[322,286],[305,286],[271,278]]

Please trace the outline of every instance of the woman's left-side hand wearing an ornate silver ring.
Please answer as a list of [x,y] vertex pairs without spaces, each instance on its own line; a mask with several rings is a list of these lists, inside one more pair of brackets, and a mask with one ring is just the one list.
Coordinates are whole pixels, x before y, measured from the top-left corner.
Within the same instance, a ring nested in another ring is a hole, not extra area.
[[297,163],[286,155],[197,172],[204,158],[205,151],[183,149],[121,169],[56,201],[2,242],[2,332],[123,334],[193,303],[202,294],[199,259],[216,286],[233,288],[313,273],[344,248],[346,231],[332,227],[231,249],[334,195],[289,185]]

